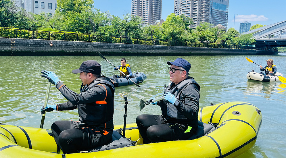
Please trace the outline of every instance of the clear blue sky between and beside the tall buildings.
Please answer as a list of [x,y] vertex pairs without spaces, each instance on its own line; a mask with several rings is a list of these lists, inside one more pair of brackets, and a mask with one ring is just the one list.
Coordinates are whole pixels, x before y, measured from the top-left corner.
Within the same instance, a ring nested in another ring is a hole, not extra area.
[[[131,13],[131,0],[94,0],[94,6],[101,11],[122,17]],[[269,25],[286,20],[286,0],[230,0],[227,28],[234,25],[239,30],[239,23],[248,21],[255,24]],[[174,0],[162,0],[162,19],[174,12]]]

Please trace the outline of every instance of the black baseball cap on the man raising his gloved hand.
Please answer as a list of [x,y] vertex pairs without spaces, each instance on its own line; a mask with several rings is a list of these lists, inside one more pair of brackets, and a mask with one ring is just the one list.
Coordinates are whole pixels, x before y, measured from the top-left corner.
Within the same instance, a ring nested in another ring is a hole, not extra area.
[[95,75],[99,75],[101,72],[101,66],[97,61],[87,60],[81,63],[78,69],[72,70],[72,73],[78,74],[81,72],[92,73]]

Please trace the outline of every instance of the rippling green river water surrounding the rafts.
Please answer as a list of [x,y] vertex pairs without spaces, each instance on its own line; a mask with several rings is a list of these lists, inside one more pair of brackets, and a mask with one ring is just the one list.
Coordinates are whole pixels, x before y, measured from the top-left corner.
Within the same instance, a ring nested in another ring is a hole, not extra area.
[[[114,65],[121,57],[105,56]],[[160,107],[145,106],[139,112],[139,100],[163,95],[164,84],[170,82],[167,61],[178,56],[124,56],[133,72],[143,72],[147,79],[140,84],[117,87],[114,96],[114,124],[123,124],[124,98],[128,98],[127,123],[135,123],[140,114],[160,114]],[[250,63],[245,56],[180,56],[192,67],[190,76],[200,84],[200,107],[210,103],[245,101],[257,106],[262,113],[262,126],[255,145],[239,157],[286,157],[286,84],[282,82],[256,82],[247,80],[249,71],[260,72],[259,66]],[[259,65],[271,58],[277,72],[286,76],[286,54],[275,56],[247,56]],[[70,89],[79,93],[79,74],[72,74],[82,61],[96,60],[101,64],[102,74],[119,74],[113,66],[99,56],[0,56],[0,123],[40,127],[40,107],[44,104],[47,79],[41,70],[55,72]],[[52,85],[48,104],[61,103],[66,99]],[[56,120],[78,120],[77,110],[52,111],[46,114],[44,128],[50,129]],[[235,142],[233,142],[235,143]]]

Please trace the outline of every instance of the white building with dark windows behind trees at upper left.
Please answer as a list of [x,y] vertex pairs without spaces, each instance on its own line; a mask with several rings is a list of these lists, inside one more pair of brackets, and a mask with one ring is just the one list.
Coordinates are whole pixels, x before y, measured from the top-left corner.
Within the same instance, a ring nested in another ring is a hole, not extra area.
[[57,0],[16,0],[15,2],[16,6],[34,14],[45,12],[51,15],[57,9]]

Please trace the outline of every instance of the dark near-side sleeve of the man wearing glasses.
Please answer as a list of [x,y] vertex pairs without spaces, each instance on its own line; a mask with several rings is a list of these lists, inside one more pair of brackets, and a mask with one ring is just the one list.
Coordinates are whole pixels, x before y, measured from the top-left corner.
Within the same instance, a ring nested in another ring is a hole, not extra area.
[[[177,110],[189,119],[197,117],[199,111],[199,91],[197,86],[190,84],[190,88],[184,88],[180,95],[180,103],[176,106]],[[185,103],[181,100],[184,100]]]

